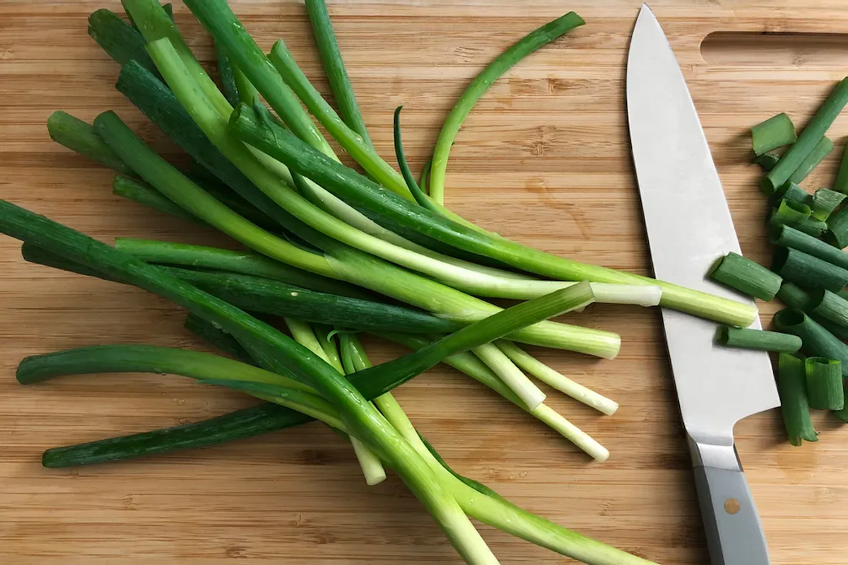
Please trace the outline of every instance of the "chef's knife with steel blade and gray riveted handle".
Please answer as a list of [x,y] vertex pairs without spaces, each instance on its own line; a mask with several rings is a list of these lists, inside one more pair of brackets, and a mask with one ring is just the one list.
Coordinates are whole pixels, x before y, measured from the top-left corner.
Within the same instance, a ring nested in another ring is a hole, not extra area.
[[[745,300],[706,278],[718,258],[740,253],[739,242],[683,73],[647,5],[630,42],[627,101],[655,276]],[[717,346],[716,326],[706,320],[663,309],[662,321],[711,562],[766,565],[733,430],[739,419],[780,405],[768,356]],[[760,327],[759,319],[752,327]]]

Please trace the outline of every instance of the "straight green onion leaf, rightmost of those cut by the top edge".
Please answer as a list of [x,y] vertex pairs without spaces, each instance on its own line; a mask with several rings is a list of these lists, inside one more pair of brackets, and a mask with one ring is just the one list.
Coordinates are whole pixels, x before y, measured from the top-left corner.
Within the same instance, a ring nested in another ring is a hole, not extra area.
[[[350,85],[348,71],[344,69],[342,53],[339,51],[336,34],[332,31],[330,14],[327,13],[324,0],[306,0],[306,12],[310,15],[315,44],[324,64],[326,77],[330,81],[333,98],[338,105],[338,113],[350,129],[362,137],[362,140],[373,147],[371,137],[362,119],[360,107],[356,103],[354,88]],[[235,105],[235,104],[233,104]]]

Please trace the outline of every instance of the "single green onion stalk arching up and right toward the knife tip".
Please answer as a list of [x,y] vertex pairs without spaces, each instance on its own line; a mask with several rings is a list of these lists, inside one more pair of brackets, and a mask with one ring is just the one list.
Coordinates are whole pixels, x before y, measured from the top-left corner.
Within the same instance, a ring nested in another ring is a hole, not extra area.
[[450,110],[450,114],[444,120],[442,131],[438,134],[436,148],[432,154],[430,173],[430,196],[433,200],[439,204],[444,202],[444,178],[448,168],[450,148],[454,144],[462,122],[465,121],[477,100],[483,97],[483,94],[494,84],[494,81],[497,81],[501,75],[510,70],[512,65],[537,49],[543,48],[557,37],[585,23],[583,18],[574,12],[569,12],[522,37],[474,77],[465,92],[462,92],[460,99],[454,104],[454,108]]

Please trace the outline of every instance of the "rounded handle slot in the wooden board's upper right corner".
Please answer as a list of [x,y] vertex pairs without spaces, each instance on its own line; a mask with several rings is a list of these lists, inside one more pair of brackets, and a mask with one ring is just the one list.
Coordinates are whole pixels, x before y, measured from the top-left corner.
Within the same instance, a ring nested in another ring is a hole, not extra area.
[[848,66],[848,34],[713,31],[700,43],[707,64],[725,66]]

